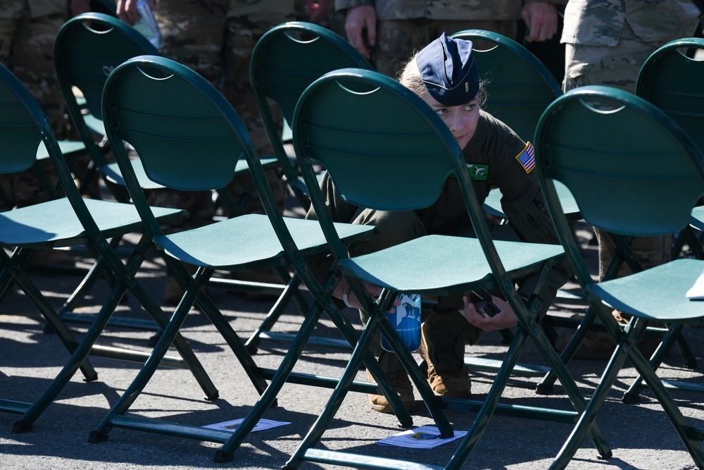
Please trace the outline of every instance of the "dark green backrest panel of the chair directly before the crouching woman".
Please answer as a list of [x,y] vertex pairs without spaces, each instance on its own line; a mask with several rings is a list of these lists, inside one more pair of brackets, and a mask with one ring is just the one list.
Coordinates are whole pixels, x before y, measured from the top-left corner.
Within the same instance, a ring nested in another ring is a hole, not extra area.
[[[387,211],[430,206],[454,170],[448,153],[463,159],[450,131],[434,125],[436,116],[419,106],[420,98],[401,85],[394,91],[346,75],[318,85],[315,99],[308,96],[296,109],[306,116],[294,132],[294,144],[303,147],[298,155],[325,166],[351,204]],[[370,174],[370,168],[378,171]]]

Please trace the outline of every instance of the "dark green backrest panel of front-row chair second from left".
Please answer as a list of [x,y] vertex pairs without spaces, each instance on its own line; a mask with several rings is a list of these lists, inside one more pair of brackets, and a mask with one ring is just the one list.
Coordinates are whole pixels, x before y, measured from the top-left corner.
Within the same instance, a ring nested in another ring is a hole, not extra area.
[[[142,65],[123,69],[120,80],[111,82],[103,94],[103,112],[111,113],[112,122],[119,125],[108,130],[108,137],[111,142],[127,142],[137,154],[148,156],[142,159],[144,172],[160,185],[184,191],[225,187],[234,176],[244,143],[239,140],[241,130],[231,128],[230,121],[222,118],[223,109],[237,115],[231,107],[228,110],[209,101],[222,99],[214,88],[200,94],[184,93],[191,87],[184,77],[197,74],[178,63],[170,65],[180,70],[179,75],[165,75],[161,68]],[[115,149],[115,153],[124,151]],[[142,202],[136,199],[134,203],[140,206]],[[160,232],[151,225],[151,233]]]

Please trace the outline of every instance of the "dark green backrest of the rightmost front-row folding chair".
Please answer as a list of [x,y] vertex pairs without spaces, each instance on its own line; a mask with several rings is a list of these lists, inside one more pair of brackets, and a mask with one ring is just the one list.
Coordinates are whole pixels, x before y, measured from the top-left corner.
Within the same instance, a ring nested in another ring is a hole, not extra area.
[[575,90],[546,111],[537,137],[543,174],[567,185],[584,220],[608,232],[677,232],[702,190],[693,142],[625,92]]

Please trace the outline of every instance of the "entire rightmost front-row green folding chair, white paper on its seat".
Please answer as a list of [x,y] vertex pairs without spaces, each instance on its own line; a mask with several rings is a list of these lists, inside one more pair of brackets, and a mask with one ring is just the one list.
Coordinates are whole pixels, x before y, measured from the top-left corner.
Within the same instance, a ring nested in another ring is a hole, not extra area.
[[[584,220],[615,234],[617,248],[626,250],[629,237],[676,233],[689,223],[692,206],[704,194],[704,163],[696,144],[647,101],[592,86],[574,89],[548,107],[538,124],[535,149],[541,187],[572,271],[616,342],[586,412],[551,468],[562,469],[570,462],[627,360],[662,405],[696,465],[703,466],[698,444],[703,430],[686,422],[635,343],[650,321],[702,322],[703,305],[685,293],[704,271],[704,261],[676,259],[624,278],[593,280],[553,183],[566,185]],[[631,315],[626,328],[617,324],[612,309]]]

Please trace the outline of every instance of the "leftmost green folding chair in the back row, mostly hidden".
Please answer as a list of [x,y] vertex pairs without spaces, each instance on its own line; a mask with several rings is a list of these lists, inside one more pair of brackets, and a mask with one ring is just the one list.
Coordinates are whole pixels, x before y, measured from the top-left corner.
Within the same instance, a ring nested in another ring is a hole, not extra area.
[[[113,197],[120,202],[130,202],[130,195],[125,188],[125,180],[122,178],[118,164],[106,159],[109,145],[103,128],[101,96],[105,80],[115,67],[128,58],[144,54],[159,55],[153,45],[133,27],[114,16],[101,13],[84,13],[71,18],[61,27],[54,42],[54,66],[69,116],[73,120],[78,135],[89,150],[94,170],[101,175]],[[82,92],[81,100],[77,99],[73,91],[74,87]],[[278,164],[275,158],[263,159],[262,163],[267,167]],[[139,184],[144,190],[165,190],[163,185],[153,182],[146,176],[141,159],[132,159],[132,166],[134,173],[139,178]],[[246,161],[238,162],[234,172],[244,171],[249,171]],[[81,185],[81,187],[88,186],[87,181]],[[227,204],[232,214],[239,214],[241,201],[235,200],[227,190],[222,188],[218,188],[218,190],[223,204]],[[282,272],[282,275],[288,278],[288,273]],[[91,279],[91,283],[96,277]],[[225,278],[213,278],[210,282],[210,285],[232,290],[265,291],[275,294],[280,294],[284,290],[284,284],[261,285],[260,283]],[[86,283],[86,288],[89,285]],[[70,297],[60,311],[62,318],[79,322],[92,321],[91,317],[86,314],[75,313],[75,309],[82,299],[83,291],[76,292]],[[305,311],[306,303],[300,295],[296,294],[295,300]],[[111,319],[111,323],[132,328],[156,328],[149,321],[137,319],[115,317]]]

